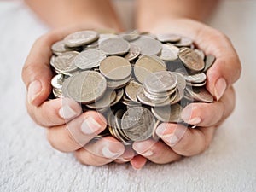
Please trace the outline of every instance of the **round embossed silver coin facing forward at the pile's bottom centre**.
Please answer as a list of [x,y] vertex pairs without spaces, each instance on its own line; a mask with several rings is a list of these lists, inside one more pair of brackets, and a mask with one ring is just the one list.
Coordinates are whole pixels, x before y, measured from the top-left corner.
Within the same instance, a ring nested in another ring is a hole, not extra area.
[[143,107],[128,109],[121,119],[121,127],[125,136],[134,142],[143,141],[151,137],[154,124],[154,115]]

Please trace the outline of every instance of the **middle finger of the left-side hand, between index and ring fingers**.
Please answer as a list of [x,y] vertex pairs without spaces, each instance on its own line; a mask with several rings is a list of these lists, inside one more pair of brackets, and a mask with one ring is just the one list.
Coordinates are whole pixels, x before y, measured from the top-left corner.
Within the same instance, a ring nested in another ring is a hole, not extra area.
[[71,152],[89,143],[92,138],[106,128],[106,125],[106,119],[102,114],[88,111],[67,125],[49,128],[47,138],[53,148],[63,152]]

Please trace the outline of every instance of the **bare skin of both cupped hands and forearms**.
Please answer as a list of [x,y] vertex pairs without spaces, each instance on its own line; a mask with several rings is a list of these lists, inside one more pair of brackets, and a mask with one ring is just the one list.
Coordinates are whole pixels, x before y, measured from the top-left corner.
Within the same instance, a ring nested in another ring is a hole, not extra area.
[[[49,67],[51,44],[71,32],[83,29],[109,27],[119,31],[122,28],[111,3],[104,2],[105,7],[98,6],[102,3],[101,0],[83,2],[78,0],[70,10],[69,3],[54,1],[55,6],[62,8],[55,13],[56,9],[49,9],[52,1],[26,0],[39,17],[54,27],[51,32],[38,38],[23,67],[22,78],[28,90],[26,107],[32,119],[38,125],[46,127],[48,140],[53,148],[63,152],[73,152],[79,162],[90,166],[102,166],[115,161],[130,162],[135,169],[140,169],[147,160],[166,164],[180,160],[182,156],[192,156],[205,151],[218,126],[235,108],[236,96],[232,84],[239,79],[241,73],[241,64],[230,39],[218,30],[198,21],[209,15],[217,1],[159,0],[157,3],[153,0],[137,1],[137,29],[143,32],[181,34],[193,39],[207,55],[212,54],[217,58],[207,71],[207,90],[215,97],[215,101],[192,103],[183,109],[182,118],[199,128],[188,129],[183,125],[163,123],[156,130],[161,140],[148,139],[125,147],[113,137],[91,140],[106,128],[106,119],[101,114],[82,113],[79,104],[70,99],[47,101],[52,78]],[[82,11],[85,6],[91,11]],[[45,14],[46,9],[48,14]],[[67,11],[70,12],[68,18]],[[73,12],[75,14],[72,14]],[[98,13],[103,13],[104,18]],[[160,15],[155,17],[155,13]],[[73,23],[73,20],[77,20],[76,23]],[[63,115],[61,108],[67,106],[73,113]],[[88,119],[94,121],[88,123]],[[89,134],[81,131],[84,121],[86,122],[84,130]]]

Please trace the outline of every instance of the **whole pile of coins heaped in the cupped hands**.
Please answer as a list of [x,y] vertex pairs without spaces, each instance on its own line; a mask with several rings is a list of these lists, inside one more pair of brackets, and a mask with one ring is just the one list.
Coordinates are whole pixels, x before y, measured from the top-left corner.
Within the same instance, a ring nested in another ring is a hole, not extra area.
[[191,102],[213,102],[206,72],[215,61],[189,38],[147,32],[81,31],[52,45],[56,73],[49,99],[68,97],[108,119],[125,143],[156,137],[160,122],[183,123]]

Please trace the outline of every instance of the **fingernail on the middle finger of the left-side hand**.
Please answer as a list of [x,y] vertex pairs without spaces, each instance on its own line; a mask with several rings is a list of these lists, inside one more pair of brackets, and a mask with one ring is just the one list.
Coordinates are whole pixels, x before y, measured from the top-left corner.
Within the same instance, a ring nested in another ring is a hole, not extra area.
[[81,131],[86,135],[96,133],[96,131],[99,131],[101,128],[102,126],[92,117],[84,119],[84,122],[81,125]]

